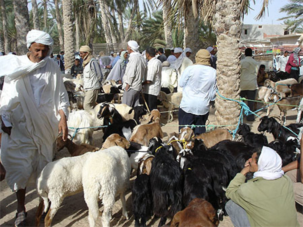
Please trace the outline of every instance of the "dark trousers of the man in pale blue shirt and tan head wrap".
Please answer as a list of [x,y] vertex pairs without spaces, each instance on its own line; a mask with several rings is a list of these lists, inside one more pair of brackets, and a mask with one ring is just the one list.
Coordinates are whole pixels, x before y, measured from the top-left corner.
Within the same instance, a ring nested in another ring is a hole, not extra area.
[[[205,125],[208,119],[208,114],[209,112],[205,115],[195,115],[192,113],[187,113],[181,108],[179,108],[179,112],[178,112],[179,125]],[[179,126],[179,131],[181,128],[184,127],[185,126]],[[195,135],[200,135],[206,131],[205,127],[196,127],[193,130]]]

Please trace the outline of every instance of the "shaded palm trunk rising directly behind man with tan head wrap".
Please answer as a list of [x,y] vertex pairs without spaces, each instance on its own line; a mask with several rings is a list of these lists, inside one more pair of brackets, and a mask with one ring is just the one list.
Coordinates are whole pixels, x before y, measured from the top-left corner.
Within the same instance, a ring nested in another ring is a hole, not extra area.
[[[190,4],[189,4],[190,3]],[[188,13],[184,17],[184,42],[183,47],[191,48],[192,53],[190,59],[195,60],[197,51],[201,47],[201,41],[199,38],[199,19],[194,17],[194,13],[191,9],[191,1],[188,1],[188,6],[190,7]]]

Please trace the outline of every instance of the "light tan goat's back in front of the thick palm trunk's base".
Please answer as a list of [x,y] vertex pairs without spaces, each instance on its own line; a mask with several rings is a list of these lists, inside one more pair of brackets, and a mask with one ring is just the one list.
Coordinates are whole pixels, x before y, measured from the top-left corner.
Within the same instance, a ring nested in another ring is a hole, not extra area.
[[211,148],[220,141],[232,140],[232,135],[227,129],[217,128],[215,130],[197,135],[195,136],[195,139],[201,139],[207,148]]

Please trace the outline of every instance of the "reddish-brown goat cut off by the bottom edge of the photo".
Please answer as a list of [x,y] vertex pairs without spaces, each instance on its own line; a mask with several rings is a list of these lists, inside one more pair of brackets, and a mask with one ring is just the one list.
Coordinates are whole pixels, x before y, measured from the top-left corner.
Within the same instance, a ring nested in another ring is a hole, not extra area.
[[171,221],[171,227],[215,227],[219,225],[216,210],[204,199],[195,198],[188,206],[177,212]]

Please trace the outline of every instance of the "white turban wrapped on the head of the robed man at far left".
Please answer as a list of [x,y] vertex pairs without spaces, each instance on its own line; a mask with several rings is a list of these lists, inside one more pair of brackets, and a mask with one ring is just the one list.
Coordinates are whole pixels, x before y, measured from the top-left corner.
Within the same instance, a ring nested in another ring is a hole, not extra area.
[[47,45],[49,48],[48,55],[50,55],[53,51],[54,41],[52,37],[44,31],[39,31],[35,29],[29,31],[28,34],[26,35],[27,48],[29,48],[32,45],[32,43],[40,43],[43,45]]

